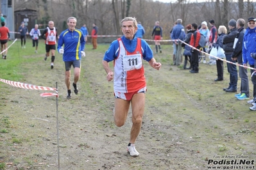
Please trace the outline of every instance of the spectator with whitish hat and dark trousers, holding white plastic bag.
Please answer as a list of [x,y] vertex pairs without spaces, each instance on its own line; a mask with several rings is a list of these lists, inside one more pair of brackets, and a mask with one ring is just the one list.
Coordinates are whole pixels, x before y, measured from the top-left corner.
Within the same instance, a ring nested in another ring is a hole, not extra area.
[[[219,33],[219,36],[217,38],[216,43],[212,43],[212,46],[216,47],[217,49],[223,48],[222,41],[223,41],[223,36],[226,35],[226,27],[225,26],[219,26],[218,33]],[[220,58],[220,56],[217,56],[217,57]],[[223,61],[221,59],[217,59],[216,60],[216,66],[217,66],[218,78],[215,79],[214,81],[223,81],[223,70],[224,70]]]

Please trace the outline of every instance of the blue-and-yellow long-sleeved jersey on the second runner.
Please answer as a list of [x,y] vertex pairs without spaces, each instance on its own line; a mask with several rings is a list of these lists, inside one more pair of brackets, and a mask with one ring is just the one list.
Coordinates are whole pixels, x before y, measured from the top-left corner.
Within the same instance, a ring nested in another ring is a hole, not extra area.
[[80,29],[70,31],[66,29],[60,34],[58,50],[64,45],[63,61],[75,61],[81,59],[81,51],[85,49],[85,38]]

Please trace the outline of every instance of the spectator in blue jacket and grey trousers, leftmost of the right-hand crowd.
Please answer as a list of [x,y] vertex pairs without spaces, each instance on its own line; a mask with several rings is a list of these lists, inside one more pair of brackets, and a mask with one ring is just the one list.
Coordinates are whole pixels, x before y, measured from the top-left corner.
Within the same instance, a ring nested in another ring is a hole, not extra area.
[[176,20],[177,25],[173,27],[173,31],[171,32],[171,39],[175,40],[176,45],[176,54],[175,54],[175,61],[173,61],[173,65],[179,66],[182,63],[182,42],[180,40],[185,39],[185,30],[182,26],[182,19]]

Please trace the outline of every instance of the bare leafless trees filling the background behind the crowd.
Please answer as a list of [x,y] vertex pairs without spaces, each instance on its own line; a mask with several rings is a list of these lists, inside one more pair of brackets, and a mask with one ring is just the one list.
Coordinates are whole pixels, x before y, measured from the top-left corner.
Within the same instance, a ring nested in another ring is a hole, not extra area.
[[89,33],[92,23],[95,23],[98,35],[121,35],[121,19],[129,16],[142,22],[146,30],[144,38],[151,38],[153,26],[158,20],[163,29],[163,39],[169,39],[176,19],[182,19],[183,26],[194,22],[201,24],[204,20],[208,24],[209,20],[214,19],[217,27],[227,27],[230,19],[243,18],[247,22],[249,17],[256,17],[256,3],[253,0],[216,0],[203,3],[189,0],[170,3],[153,0],[15,0],[14,6],[15,10],[37,10],[37,22],[42,24],[42,28],[47,26],[49,20],[53,20],[58,30],[63,31],[67,28],[67,18],[73,16],[78,19],[76,27],[86,24]]

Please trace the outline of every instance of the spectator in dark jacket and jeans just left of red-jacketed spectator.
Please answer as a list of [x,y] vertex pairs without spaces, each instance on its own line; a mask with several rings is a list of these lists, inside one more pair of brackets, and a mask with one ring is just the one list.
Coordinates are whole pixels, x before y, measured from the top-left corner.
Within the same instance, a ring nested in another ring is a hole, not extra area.
[[[194,33],[194,31],[192,31],[192,26],[191,24],[188,24],[186,26],[187,29],[187,35],[185,36],[185,43],[190,43],[191,40],[191,35],[192,33]],[[183,55],[185,56],[185,60],[184,60],[184,65],[183,65],[183,69],[191,69],[191,47],[189,47],[189,45],[185,45],[185,43],[182,43],[182,47],[184,47],[184,52]],[[187,61],[189,60],[190,66],[189,68],[187,68]]]

